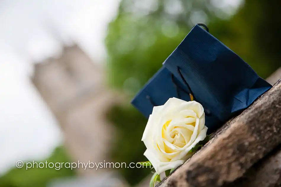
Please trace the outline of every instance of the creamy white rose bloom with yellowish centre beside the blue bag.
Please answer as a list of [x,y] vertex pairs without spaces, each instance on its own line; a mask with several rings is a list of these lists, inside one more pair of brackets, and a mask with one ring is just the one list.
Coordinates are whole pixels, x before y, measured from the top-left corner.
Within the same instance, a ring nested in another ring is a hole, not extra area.
[[148,118],[142,141],[144,156],[157,174],[182,165],[196,144],[207,133],[202,105],[196,101],[170,98],[164,105],[155,106]]

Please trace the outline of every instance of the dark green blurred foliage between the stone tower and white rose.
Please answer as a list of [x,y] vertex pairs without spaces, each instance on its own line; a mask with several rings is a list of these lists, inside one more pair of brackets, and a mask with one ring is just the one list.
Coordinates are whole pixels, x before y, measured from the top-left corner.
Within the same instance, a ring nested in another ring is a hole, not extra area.
[[[112,142],[112,160],[127,163],[147,160],[143,156],[146,147],[141,142],[147,119],[139,115],[139,112],[132,106],[114,106],[107,116],[118,129],[118,136]],[[119,168],[118,171],[131,185],[137,184],[151,172],[149,167]]]

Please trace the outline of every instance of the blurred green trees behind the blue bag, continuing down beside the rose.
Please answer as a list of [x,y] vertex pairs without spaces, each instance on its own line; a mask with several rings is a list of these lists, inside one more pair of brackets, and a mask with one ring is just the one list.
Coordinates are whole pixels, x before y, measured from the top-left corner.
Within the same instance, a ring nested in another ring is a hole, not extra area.
[[[219,0],[122,0],[105,40],[108,82],[131,99],[198,22],[206,23],[212,35],[266,78],[281,65],[279,4],[237,0],[235,7],[222,6]],[[127,105],[114,106],[108,116],[119,132],[112,158],[143,161],[141,136],[147,120]],[[121,172],[134,185],[149,171]]]

